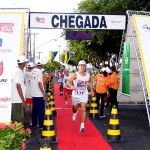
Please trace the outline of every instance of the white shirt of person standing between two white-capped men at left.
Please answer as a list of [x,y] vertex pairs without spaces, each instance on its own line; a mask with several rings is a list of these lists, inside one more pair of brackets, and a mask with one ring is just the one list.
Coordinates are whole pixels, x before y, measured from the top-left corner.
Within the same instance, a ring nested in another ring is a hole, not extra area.
[[32,74],[31,72],[26,72],[25,73],[25,85],[26,85],[26,98],[32,98],[31,96],[31,79],[32,79]]

